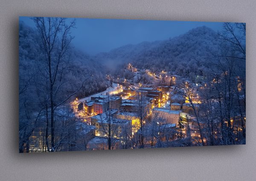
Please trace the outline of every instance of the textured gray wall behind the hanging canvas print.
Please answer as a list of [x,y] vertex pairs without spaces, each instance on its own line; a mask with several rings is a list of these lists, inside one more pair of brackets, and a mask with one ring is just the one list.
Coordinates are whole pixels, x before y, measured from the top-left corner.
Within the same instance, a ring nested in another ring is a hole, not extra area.
[[[1,0],[0,180],[255,179],[255,10],[254,0]],[[19,16],[246,22],[247,144],[18,154]]]

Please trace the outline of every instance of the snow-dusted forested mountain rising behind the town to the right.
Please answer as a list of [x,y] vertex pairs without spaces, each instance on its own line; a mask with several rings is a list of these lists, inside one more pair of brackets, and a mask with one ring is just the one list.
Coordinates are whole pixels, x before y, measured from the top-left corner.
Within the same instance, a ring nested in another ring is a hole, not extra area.
[[98,54],[95,59],[120,68],[131,62],[140,69],[154,72],[165,70],[176,71],[183,76],[203,75],[205,62],[212,61],[210,52],[215,52],[220,43],[217,33],[203,26],[169,40],[122,46]]

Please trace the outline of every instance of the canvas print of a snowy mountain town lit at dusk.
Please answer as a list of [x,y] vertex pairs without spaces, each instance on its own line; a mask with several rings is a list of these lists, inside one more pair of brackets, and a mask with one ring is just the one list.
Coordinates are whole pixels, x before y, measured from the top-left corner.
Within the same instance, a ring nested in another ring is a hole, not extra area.
[[19,152],[245,144],[245,31],[20,17]]

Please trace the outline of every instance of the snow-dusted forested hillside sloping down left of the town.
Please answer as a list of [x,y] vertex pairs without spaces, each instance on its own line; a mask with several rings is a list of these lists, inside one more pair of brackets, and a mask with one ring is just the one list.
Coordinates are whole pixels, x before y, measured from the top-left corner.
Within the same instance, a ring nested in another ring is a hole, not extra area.
[[[38,43],[40,42],[39,34],[33,28],[21,22],[19,37],[19,76],[20,88],[22,89],[28,82],[35,85],[34,75],[40,71],[39,65],[42,64],[41,59],[44,55],[41,54],[42,46]],[[75,48],[70,48],[68,51],[67,65],[65,65],[67,68],[63,72],[62,79],[81,82],[81,79],[87,77],[84,86],[76,96],[87,96],[103,91],[108,87],[107,82],[105,82],[105,70],[99,62],[95,62],[90,56]],[[32,83],[33,81],[34,83]]]

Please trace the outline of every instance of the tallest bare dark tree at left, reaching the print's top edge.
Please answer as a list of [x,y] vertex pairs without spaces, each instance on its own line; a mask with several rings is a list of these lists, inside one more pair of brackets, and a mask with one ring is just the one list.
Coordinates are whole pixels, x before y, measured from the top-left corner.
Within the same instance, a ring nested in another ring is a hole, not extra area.
[[[69,68],[68,50],[74,38],[70,34],[71,29],[75,27],[75,20],[69,24],[65,18],[35,17],[33,20],[41,40],[39,72],[47,81],[42,91],[49,95],[51,151],[55,151],[55,109],[75,95],[84,83],[81,81],[79,86],[69,82],[68,85],[63,79],[65,71]],[[64,90],[70,93],[63,96]],[[46,108],[48,109],[48,105]]]

